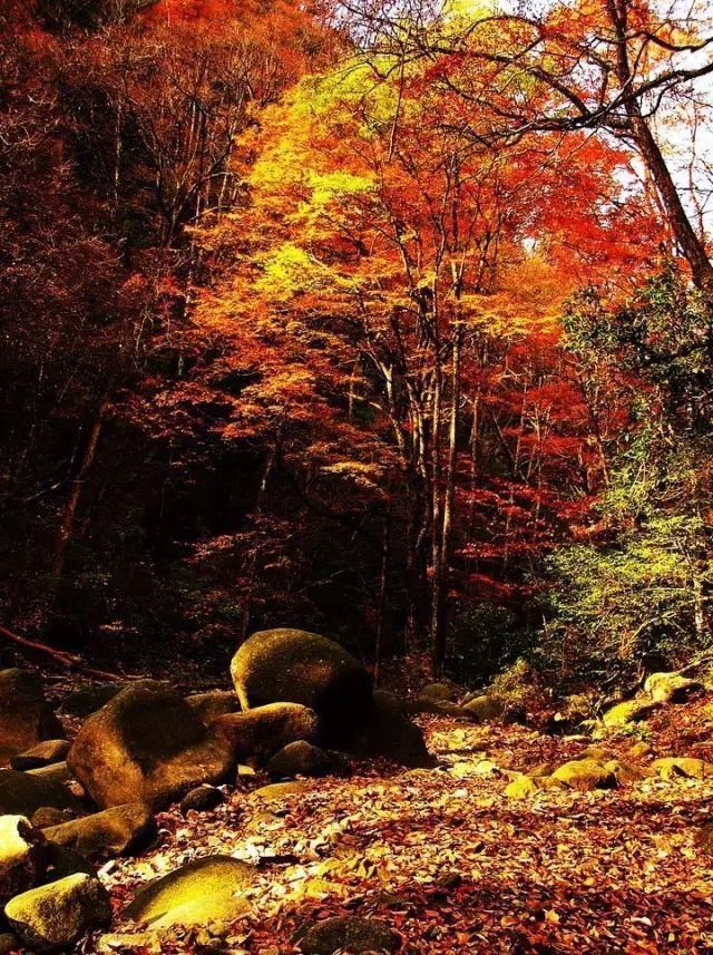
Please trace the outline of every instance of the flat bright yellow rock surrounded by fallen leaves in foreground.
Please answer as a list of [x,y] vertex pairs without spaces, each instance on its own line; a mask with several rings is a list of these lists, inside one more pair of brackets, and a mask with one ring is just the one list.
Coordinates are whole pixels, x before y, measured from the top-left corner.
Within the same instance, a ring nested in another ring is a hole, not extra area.
[[152,928],[224,925],[240,917],[256,869],[231,856],[195,859],[140,888],[126,908],[134,922]]

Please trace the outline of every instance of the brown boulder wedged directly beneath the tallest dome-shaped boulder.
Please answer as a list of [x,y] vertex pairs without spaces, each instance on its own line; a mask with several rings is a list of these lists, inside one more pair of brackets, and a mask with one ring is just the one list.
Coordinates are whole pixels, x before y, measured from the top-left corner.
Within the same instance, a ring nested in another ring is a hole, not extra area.
[[237,759],[265,760],[290,743],[313,743],[320,737],[318,714],[300,703],[268,703],[245,713],[226,713],[216,717],[212,728]]

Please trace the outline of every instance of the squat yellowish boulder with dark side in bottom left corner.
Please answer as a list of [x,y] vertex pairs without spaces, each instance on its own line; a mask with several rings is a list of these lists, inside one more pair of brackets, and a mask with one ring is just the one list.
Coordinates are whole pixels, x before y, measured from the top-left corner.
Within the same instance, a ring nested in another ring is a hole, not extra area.
[[109,896],[99,879],[87,875],[30,889],[11,899],[8,922],[33,952],[51,952],[78,942],[91,928],[111,920]]

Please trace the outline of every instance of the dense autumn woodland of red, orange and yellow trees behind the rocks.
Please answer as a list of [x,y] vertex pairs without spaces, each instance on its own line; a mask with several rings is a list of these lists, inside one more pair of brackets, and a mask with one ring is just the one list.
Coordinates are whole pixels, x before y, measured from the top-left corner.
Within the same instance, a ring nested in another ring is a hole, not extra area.
[[3,3],[0,623],[154,675],[704,649],[704,13]]

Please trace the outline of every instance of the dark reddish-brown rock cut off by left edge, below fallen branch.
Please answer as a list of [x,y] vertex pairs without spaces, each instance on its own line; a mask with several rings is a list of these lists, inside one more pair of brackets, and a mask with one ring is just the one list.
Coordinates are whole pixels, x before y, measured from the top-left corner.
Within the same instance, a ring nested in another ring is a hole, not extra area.
[[27,670],[0,671],[0,762],[61,735],[62,725],[45,699],[39,676]]

